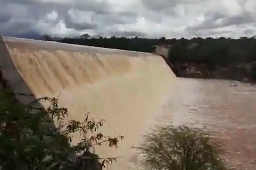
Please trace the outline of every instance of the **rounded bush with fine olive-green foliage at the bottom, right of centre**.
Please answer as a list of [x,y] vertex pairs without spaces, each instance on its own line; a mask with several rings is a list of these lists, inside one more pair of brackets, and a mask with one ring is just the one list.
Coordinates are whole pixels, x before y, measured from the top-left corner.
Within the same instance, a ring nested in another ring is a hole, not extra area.
[[162,126],[145,136],[139,153],[152,170],[224,170],[221,146],[210,135],[186,126]]

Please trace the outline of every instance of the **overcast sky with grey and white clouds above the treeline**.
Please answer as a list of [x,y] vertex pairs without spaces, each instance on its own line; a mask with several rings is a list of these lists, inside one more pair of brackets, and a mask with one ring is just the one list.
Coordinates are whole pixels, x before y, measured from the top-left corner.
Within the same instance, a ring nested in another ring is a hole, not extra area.
[[256,0],[0,0],[6,36],[256,35]]

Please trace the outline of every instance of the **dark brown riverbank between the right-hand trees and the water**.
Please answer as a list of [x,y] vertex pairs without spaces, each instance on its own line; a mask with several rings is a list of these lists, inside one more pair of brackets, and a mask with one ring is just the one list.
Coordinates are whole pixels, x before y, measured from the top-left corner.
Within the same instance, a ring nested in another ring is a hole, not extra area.
[[230,64],[174,62],[172,69],[177,77],[256,82],[256,62]]

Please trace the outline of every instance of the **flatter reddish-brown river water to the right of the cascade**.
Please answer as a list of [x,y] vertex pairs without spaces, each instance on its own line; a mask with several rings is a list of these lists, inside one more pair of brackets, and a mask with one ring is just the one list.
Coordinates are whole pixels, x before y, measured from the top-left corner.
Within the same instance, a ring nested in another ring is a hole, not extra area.
[[179,78],[158,123],[210,132],[224,144],[230,168],[256,169],[256,86],[226,80]]

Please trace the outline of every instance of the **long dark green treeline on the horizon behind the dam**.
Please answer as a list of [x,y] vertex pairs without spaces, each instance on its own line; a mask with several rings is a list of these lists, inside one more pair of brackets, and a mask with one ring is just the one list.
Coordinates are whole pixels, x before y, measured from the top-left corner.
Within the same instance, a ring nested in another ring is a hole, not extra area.
[[64,38],[59,42],[153,52],[154,45],[170,44],[171,62],[231,63],[256,61],[256,36],[231,38],[147,39],[147,38]]

